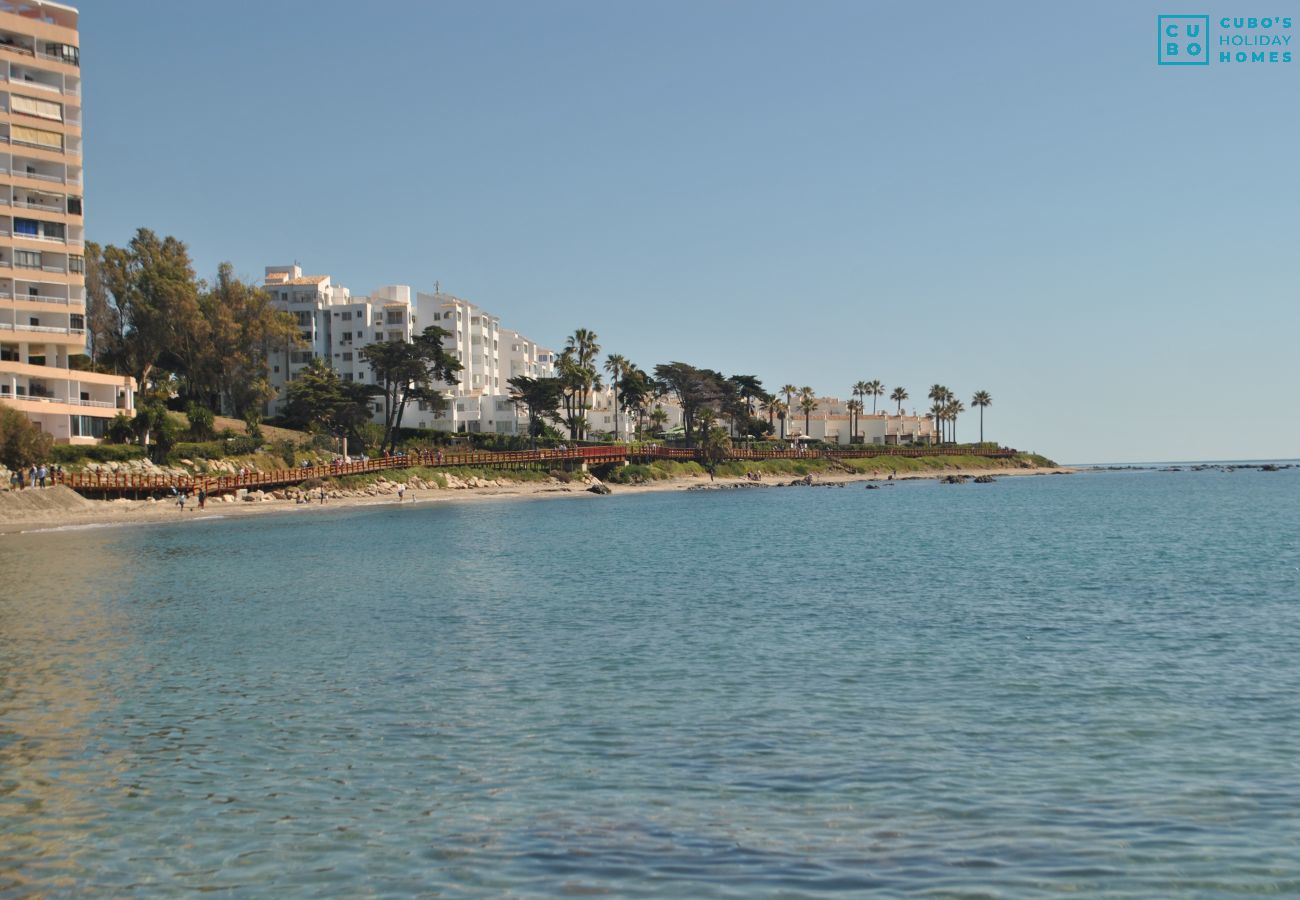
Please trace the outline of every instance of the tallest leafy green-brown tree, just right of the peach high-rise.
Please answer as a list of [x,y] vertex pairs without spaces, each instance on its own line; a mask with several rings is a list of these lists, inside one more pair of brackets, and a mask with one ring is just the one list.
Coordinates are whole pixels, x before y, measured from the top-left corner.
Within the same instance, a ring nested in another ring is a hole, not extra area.
[[204,326],[185,243],[142,228],[125,248],[104,247],[96,268],[117,312],[114,362],[139,385],[164,356],[191,365],[204,345]]

